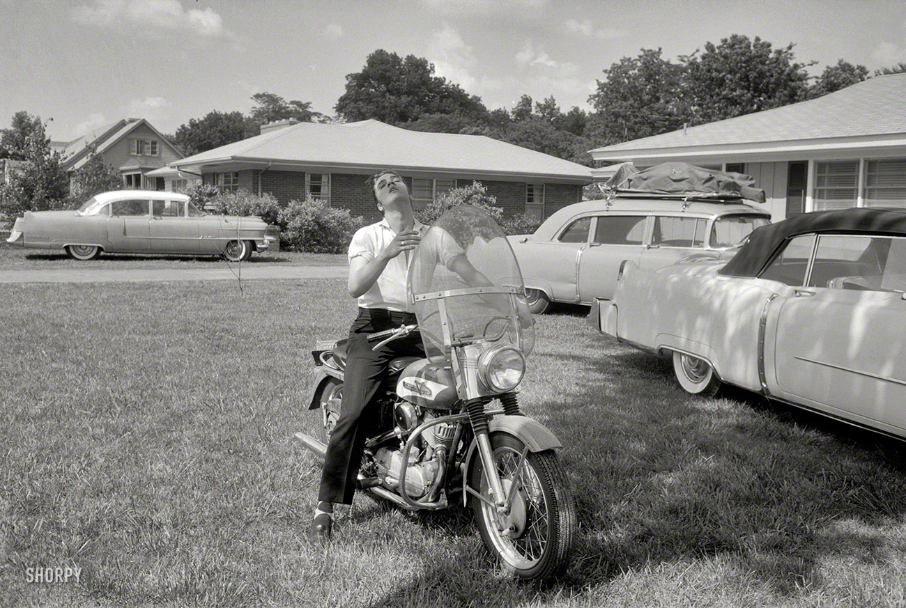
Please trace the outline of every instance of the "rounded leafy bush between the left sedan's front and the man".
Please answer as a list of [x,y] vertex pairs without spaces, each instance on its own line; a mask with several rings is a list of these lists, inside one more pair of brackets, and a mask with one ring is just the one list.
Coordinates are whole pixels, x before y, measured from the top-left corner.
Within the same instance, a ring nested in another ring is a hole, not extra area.
[[352,234],[365,224],[363,217],[350,215],[347,209],[306,196],[290,201],[277,219],[283,230],[280,247],[297,252],[342,253],[349,247]]

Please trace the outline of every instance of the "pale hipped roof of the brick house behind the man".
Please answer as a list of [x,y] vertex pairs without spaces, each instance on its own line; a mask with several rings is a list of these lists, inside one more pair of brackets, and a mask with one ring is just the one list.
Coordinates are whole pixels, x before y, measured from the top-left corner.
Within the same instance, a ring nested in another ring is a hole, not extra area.
[[[379,120],[340,125],[301,122],[183,158],[170,166],[256,162],[278,165],[382,167],[432,172],[545,176],[588,182],[577,163],[477,135],[426,133]],[[195,169],[198,170],[198,169]]]

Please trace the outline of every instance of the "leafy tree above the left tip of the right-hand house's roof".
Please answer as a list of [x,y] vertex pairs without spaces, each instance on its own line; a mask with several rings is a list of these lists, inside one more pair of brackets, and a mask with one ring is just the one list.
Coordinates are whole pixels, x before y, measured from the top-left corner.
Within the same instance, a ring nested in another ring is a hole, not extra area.
[[660,49],[642,49],[638,57],[612,63],[588,98],[596,110],[588,125],[595,144],[609,146],[682,127],[683,71],[661,58]]

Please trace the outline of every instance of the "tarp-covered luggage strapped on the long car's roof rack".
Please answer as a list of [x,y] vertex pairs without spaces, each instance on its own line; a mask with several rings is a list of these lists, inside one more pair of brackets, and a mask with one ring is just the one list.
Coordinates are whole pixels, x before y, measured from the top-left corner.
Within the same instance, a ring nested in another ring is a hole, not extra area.
[[662,163],[641,171],[623,164],[603,185],[608,196],[659,195],[680,199],[708,199],[737,203],[740,198],[764,203],[765,191],[754,187],[752,176],[717,171],[686,163]]

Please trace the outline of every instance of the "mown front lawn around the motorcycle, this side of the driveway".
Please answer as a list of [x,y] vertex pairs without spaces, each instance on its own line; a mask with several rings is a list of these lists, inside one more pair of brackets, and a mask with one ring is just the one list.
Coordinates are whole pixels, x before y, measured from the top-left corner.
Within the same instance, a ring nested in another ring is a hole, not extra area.
[[[728,391],[679,390],[582,310],[538,318],[521,401],[564,442],[573,563],[517,584],[461,510],[361,496],[309,546],[319,463],[292,439],[341,280],[4,288],[0,604],[897,606],[903,448]],[[78,565],[80,584],[26,584]]]

